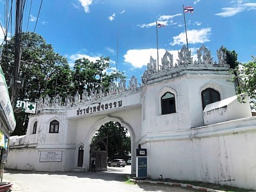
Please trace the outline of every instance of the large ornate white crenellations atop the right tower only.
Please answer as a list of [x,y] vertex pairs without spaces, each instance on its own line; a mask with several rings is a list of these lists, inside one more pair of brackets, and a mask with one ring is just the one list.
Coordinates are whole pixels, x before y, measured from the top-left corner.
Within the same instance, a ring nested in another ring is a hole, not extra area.
[[147,84],[148,79],[150,78],[151,74],[161,72],[161,71],[169,71],[172,70],[172,68],[177,68],[179,66],[188,67],[188,65],[193,66],[204,66],[204,67],[211,67],[212,65],[225,65],[227,64],[227,54],[224,51],[223,46],[220,47],[219,50],[217,50],[217,56],[218,56],[218,63],[215,61],[213,63],[213,59],[211,57],[211,51],[209,51],[205,45],[203,44],[200,49],[196,50],[197,54],[197,61],[195,60],[193,62],[193,58],[191,56],[191,51],[188,50],[188,48],[184,45],[182,49],[178,52],[179,59],[177,60],[177,63],[173,63],[173,54],[170,54],[170,52],[166,51],[163,58],[161,59],[161,64],[159,65],[159,69],[157,70],[157,61],[150,56],[150,61],[147,64],[147,70],[145,70],[143,76],[141,77],[141,81],[143,84]]

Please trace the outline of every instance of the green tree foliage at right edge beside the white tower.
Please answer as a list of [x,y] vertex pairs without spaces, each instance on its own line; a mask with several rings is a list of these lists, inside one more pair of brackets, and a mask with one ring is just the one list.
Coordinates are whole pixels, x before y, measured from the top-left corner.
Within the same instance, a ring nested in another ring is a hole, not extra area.
[[245,98],[245,95],[242,93],[247,93],[250,98],[252,108],[256,109],[256,58],[253,56],[252,58],[252,61],[243,63],[241,66],[236,67],[237,76],[235,78],[239,81],[236,93],[241,102],[244,102]]

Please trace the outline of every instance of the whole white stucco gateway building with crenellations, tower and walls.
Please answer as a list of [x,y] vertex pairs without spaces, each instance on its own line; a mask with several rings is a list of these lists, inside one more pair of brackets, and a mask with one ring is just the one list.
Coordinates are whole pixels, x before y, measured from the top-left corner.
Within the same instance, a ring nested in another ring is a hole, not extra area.
[[132,173],[140,145],[147,148],[148,177],[256,189],[250,169],[256,167],[256,119],[250,105],[237,102],[223,47],[215,62],[204,45],[196,53],[197,59],[192,58],[182,47],[175,62],[166,51],[159,66],[150,57],[142,85],[132,77],[128,86],[124,79],[111,83],[107,93],[102,86],[91,95],[40,98],[26,136],[10,140],[6,167],[88,170],[93,134],[113,121],[131,134]]

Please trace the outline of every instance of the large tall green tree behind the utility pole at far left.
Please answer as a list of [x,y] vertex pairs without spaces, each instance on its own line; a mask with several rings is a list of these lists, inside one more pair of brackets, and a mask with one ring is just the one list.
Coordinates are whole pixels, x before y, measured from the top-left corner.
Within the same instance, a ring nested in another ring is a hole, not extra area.
[[[3,45],[1,66],[8,85],[13,76],[14,45],[15,36]],[[62,97],[68,95],[72,78],[66,58],[54,52],[52,45],[46,44],[44,38],[36,33],[21,34],[21,49],[19,77],[24,79],[24,84],[17,91],[15,100],[29,99],[35,102],[46,93],[52,97],[55,87]],[[57,74],[58,81],[56,81]],[[48,76],[49,81],[47,81]],[[12,86],[10,86],[9,93],[12,93]],[[26,134],[28,114],[15,110],[15,118],[17,125],[13,135]]]

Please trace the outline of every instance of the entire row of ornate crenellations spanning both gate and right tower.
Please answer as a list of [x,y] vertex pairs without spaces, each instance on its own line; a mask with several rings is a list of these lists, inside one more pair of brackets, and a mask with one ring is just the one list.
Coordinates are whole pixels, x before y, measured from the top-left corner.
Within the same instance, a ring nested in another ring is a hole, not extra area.
[[[154,60],[154,58],[150,56],[150,61],[147,64],[147,70],[145,70],[143,76],[141,77],[143,85],[147,84],[150,76],[152,74],[156,74],[157,72],[168,72],[173,68],[177,68],[180,66],[188,67],[188,65],[193,65],[211,67],[212,65],[217,64],[216,61],[213,63],[211,51],[209,51],[204,44],[202,45],[202,47],[200,47],[200,49],[196,50],[196,54],[197,61],[193,62],[193,58],[191,57],[191,51],[189,51],[188,48],[184,45],[182,49],[180,49],[180,51],[178,52],[179,59],[176,63],[174,63],[173,54],[170,54],[170,52],[166,51],[163,58],[161,58],[161,65],[159,65],[159,67],[157,67],[157,60]],[[217,50],[217,56],[219,65],[227,64],[227,54],[225,53],[223,46],[221,46],[220,49]],[[175,74],[178,76],[179,72],[176,72]],[[139,87],[141,87],[141,84],[139,84]],[[88,90],[84,89],[84,92],[81,95],[77,92],[74,97],[69,95],[65,99],[62,99],[60,95],[56,95],[53,98],[49,97],[49,95],[46,95],[44,99],[40,97],[36,102],[38,108],[58,106],[67,106],[69,108],[72,106],[77,106],[77,104],[81,102],[100,100],[103,97],[117,95],[123,92],[133,92],[137,88],[137,78],[135,76],[132,76],[129,81],[128,87],[126,87],[125,79],[120,79],[119,83],[115,83],[113,81],[109,83],[109,86],[107,88],[103,84],[99,84],[97,88],[93,87],[89,90],[89,92]]]

